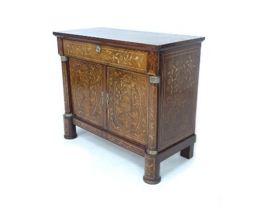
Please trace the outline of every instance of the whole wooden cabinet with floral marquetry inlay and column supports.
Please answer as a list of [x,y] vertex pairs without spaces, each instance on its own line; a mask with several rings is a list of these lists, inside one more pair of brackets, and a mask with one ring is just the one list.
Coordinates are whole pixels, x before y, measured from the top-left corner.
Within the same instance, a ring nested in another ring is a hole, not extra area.
[[146,183],[160,162],[193,156],[203,37],[91,28],[54,32],[61,56],[64,137],[75,126],[145,158]]

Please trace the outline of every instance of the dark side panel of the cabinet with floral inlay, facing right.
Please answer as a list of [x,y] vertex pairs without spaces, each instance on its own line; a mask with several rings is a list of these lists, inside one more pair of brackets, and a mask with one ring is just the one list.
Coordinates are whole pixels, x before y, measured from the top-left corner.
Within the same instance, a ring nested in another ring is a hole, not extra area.
[[161,54],[159,151],[195,133],[200,47]]

